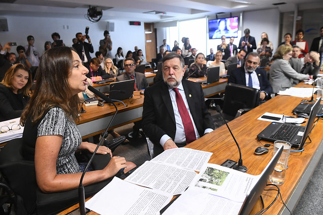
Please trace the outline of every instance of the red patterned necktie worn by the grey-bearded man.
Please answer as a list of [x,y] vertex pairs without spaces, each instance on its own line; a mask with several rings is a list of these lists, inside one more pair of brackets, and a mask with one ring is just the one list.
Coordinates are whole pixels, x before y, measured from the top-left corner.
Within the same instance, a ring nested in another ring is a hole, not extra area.
[[190,115],[188,114],[184,100],[181,96],[181,93],[178,91],[178,88],[174,88],[173,90],[175,91],[175,94],[176,94],[176,103],[177,103],[178,111],[180,112],[180,115],[183,121],[186,144],[189,144],[194,140],[196,140],[193,122],[190,118]]

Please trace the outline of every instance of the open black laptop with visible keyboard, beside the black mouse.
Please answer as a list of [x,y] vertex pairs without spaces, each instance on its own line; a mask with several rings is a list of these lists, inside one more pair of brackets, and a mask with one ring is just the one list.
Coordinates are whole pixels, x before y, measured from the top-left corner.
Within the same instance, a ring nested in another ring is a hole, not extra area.
[[306,126],[291,125],[286,123],[272,122],[257,137],[259,140],[275,142],[276,140],[285,140],[292,144],[293,148],[303,149],[305,140],[309,135],[318,109],[321,98],[319,97],[312,106]]

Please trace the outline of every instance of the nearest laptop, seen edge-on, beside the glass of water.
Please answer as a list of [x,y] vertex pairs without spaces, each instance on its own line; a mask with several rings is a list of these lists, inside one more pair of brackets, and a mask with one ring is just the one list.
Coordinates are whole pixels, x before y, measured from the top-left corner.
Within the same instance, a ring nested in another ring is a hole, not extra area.
[[246,196],[242,207],[239,211],[240,215],[247,215],[250,213],[254,205],[259,199],[259,196],[262,194],[268,178],[273,173],[275,166],[279,160],[279,157],[281,156],[283,152],[283,146],[281,146],[278,151],[275,153],[275,155],[272,157],[270,162],[267,164],[267,166],[264,168],[264,170],[260,174],[260,178],[257,181],[257,183],[254,185],[254,187],[250,190],[248,196]]

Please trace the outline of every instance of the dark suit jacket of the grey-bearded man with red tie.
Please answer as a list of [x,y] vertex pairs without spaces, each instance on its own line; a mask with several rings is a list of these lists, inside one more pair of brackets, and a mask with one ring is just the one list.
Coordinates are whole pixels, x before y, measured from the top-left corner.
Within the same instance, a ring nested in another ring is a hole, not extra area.
[[[182,84],[197,131],[203,136],[204,130],[214,129],[214,125],[204,102],[201,84],[187,80],[182,80]],[[176,124],[172,100],[168,86],[163,81],[145,90],[142,125],[145,134],[154,143],[154,155],[164,151],[159,144],[163,135],[175,138]]]

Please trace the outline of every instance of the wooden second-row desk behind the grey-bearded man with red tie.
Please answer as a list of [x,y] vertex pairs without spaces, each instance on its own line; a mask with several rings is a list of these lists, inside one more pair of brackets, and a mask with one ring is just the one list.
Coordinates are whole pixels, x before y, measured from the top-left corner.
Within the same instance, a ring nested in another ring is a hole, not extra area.
[[[202,85],[204,96],[212,96],[224,92],[227,81],[227,79],[220,79],[218,82]],[[124,100],[124,102],[127,104],[127,100]],[[121,102],[116,103],[118,104],[118,114],[111,129],[141,120],[143,95],[140,95],[139,91],[134,92],[134,96],[129,100],[127,107]],[[110,122],[115,112],[114,106],[106,104],[104,106],[93,105],[86,107],[83,105],[83,107],[86,113],[81,114],[81,117],[79,118],[80,121],[77,122],[77,127],[79,128],[83,139],[100,134],[102,130],[105,130],[107,123]]]

